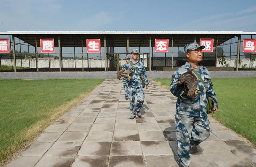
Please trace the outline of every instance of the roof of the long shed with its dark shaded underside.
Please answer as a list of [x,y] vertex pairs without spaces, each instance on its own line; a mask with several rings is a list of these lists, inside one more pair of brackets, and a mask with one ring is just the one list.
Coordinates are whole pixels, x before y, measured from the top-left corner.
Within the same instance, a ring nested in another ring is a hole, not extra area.
[[[114,47],[126,47],[127,37],[129,37],[130,47],[148,47],[149,38],[169,38],[174,37],[175,46],[184,46],[187,43],[200,38],[214,38],[218,36],[218,43],[235,37],[237,35],[251,35],[256,32],[243,32],[243,31],[7,31],[0,32],[0,35],[14,35],[22,41],[35,46],[35,37],[40,38],[54,38],[60,41],[62,47],[78,47],[81,46],[81,38],[83,39],[101,39],[101,45],[104,46],[104,36],[106,36],[107,45]],[[37,41],[38,45],[40,41]],[[56,41],[58,46],[58,41]],[[154,41],[151,41],[154,46]],[[216,40],[214,40],[216,45]],[[171,46],[171,43],[170,43]]]

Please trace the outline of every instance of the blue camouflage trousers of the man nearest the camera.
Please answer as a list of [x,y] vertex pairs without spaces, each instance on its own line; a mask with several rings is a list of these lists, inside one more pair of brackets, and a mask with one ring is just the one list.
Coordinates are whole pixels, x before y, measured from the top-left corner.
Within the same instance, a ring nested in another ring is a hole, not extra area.
[[182,167],[188,167],[190,148],[196,147],[210,136],[209,120],[207,116],[195,117],[184,114],[176,114],[175,120],[179,163]]

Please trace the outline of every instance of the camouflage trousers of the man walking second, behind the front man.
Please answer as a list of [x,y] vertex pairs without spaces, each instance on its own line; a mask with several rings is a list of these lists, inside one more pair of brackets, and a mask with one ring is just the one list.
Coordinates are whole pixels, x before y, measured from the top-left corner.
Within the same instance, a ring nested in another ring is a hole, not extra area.
[[[142,87],[139,88],[132,88],[128,86],[128,93],[130,98],[130,111],[131,115],[136,115],[136,112],[140,111],[143,103],[144,103],[144,90]],[[135,98],[137,100],[136,106],[135,106]]]

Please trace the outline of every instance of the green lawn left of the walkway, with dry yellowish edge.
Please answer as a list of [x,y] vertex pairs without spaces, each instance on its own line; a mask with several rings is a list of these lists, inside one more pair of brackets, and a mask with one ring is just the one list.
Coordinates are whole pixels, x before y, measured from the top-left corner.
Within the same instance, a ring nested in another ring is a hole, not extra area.
[[102,81],[0,80],[0,166]]

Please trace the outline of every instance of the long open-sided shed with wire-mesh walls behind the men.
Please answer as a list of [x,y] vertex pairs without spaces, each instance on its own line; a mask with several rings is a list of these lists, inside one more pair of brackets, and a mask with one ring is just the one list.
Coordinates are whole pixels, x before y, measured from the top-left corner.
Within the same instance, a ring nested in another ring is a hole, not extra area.
[[[209,70],[256,66],[256,54],[242,52],[243,39],[256,39],[256,32],[7,31],[0,32],[0,39],[8,39],[10,47],[10,53],[0,53],[0,71],[118,71],[134,48],[147,71],[174,71],[186,61],[184,45],[200,39],[214,40],[213,52],[204,53],[202,61]],[[54,39],[54,53],[42,53],[40,39]],[[100,39],[100,52],[88,53],[87,39]],[[168,39],[168,52],[157,53],[155,39]]]

